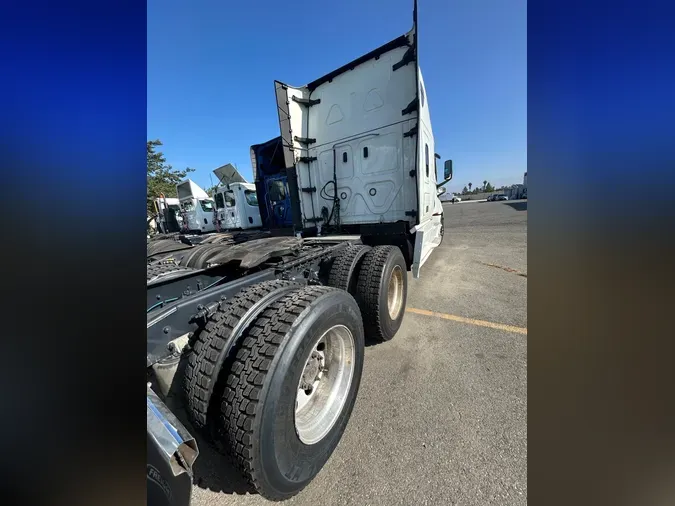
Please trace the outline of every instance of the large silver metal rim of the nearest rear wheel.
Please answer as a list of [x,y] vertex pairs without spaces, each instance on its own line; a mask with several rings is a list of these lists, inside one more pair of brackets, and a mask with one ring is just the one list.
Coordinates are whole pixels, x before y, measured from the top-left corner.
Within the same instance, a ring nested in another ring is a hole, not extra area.
[[295,431],[300,441],[321,441],[337,422],[354,377],[355,344],[352,332],[334,325],[314,343],[295,400]]

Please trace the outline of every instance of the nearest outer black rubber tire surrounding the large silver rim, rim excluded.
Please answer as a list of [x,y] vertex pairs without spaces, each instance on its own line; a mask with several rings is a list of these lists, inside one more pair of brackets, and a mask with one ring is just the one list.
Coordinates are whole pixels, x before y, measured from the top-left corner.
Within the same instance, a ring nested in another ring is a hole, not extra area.
[[[354,337],[350,390],[338,419],[319,442],[295,430],[295,401],[304,364],[317,339],[342,324]],[[255,490],[272,501],[300,492],[338,445],[356,401],[363,370],[361,313],[344,290],[307,286],[272,303],[248,331],[227,378],[223,442]]]

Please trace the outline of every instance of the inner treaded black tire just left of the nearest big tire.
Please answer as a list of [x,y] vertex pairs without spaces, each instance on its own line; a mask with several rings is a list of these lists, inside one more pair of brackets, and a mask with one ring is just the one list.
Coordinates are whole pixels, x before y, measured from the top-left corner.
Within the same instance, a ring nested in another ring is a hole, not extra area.
[[[185,410],[197,429],[204,429],[212,421],[211,399],[220,399],[223,385],[217,385],[219,375],[221,370],[229,372],[226,359],[228,356],[234,358],[237,350],[237,343],[231,343],[230,338],[241,319],[265,296],[299,286],[292,281],[276,279],[249,286],[221,304],[204,328],[195,332],[185,366],[183,393]],[[214,404],[213,421],[218,418],[220,402]]]

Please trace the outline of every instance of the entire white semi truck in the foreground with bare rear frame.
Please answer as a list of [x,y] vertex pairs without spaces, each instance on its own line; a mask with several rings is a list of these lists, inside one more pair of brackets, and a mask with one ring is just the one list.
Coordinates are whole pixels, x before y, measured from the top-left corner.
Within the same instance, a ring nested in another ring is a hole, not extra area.
[[[274,149],[252,154],[263,223],[288,202],[287,235],[149,248],[151,389],[182,403],[267,499],[297,494],[328,460],[356,401],[365,340],[395,336],[407,272],[418,277],[443,237],[437,188],[452,166],[439,182],[416,4],[413,20],[306,86],[275,83],[284,170]],[[270,196],[265,177],[285,178],[286,194]]]

